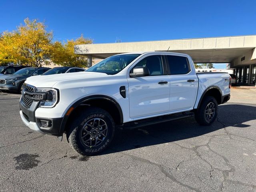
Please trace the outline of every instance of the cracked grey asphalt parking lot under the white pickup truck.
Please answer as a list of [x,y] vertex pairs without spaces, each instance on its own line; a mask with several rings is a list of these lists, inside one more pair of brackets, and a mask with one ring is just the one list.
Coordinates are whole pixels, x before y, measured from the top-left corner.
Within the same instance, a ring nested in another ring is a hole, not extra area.
[[86,157],[29,130],[20,95],[0,93],[0,191],[256,191],[256,91],[231,94],[211,126],[117,130],[104,154]]

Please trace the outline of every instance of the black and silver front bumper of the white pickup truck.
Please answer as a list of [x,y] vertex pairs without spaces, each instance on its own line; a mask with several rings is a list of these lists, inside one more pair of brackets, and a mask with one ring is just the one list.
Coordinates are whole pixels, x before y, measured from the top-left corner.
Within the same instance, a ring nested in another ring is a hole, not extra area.
[[[60,127],[63,118],[44,118],[36,117],[35,112],[38,109],[39,101],[33,101],[32,105],[28,108],[26,107],[22,99],[20,100],[20,117],[24,124],[28,126],[31,130],[42,133],[42,134],[52,134],[54,136],[61,136]],[[40,120],[47,120],[50,122],[49,127],[43,127],[40,124]]]

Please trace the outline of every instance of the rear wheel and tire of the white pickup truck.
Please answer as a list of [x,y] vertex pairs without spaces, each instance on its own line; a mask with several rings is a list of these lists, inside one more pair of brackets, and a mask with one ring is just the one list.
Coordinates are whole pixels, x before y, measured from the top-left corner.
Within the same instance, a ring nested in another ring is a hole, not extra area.
[[212,96],[206,96],[195,112],[196,122],[200,125],[212,124],[218,115],[218,103]]

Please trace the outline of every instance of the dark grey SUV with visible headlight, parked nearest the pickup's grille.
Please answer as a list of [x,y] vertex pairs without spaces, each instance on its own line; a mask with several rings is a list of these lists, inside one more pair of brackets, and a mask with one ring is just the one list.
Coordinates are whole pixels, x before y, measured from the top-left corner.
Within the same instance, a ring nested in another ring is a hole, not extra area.
[[42,75],[49,69],[44,67],[27,67],[18,70],[12,75],[0,76],[0,90],[20,92],[22,84],[28,77]]

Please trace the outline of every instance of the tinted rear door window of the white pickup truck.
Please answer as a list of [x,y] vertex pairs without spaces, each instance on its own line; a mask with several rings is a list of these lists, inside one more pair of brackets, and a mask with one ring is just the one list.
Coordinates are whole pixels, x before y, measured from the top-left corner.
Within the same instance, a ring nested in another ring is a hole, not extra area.
[[170,75],[187,74],[190,72],[188,59],[182,56],[167,55]]

